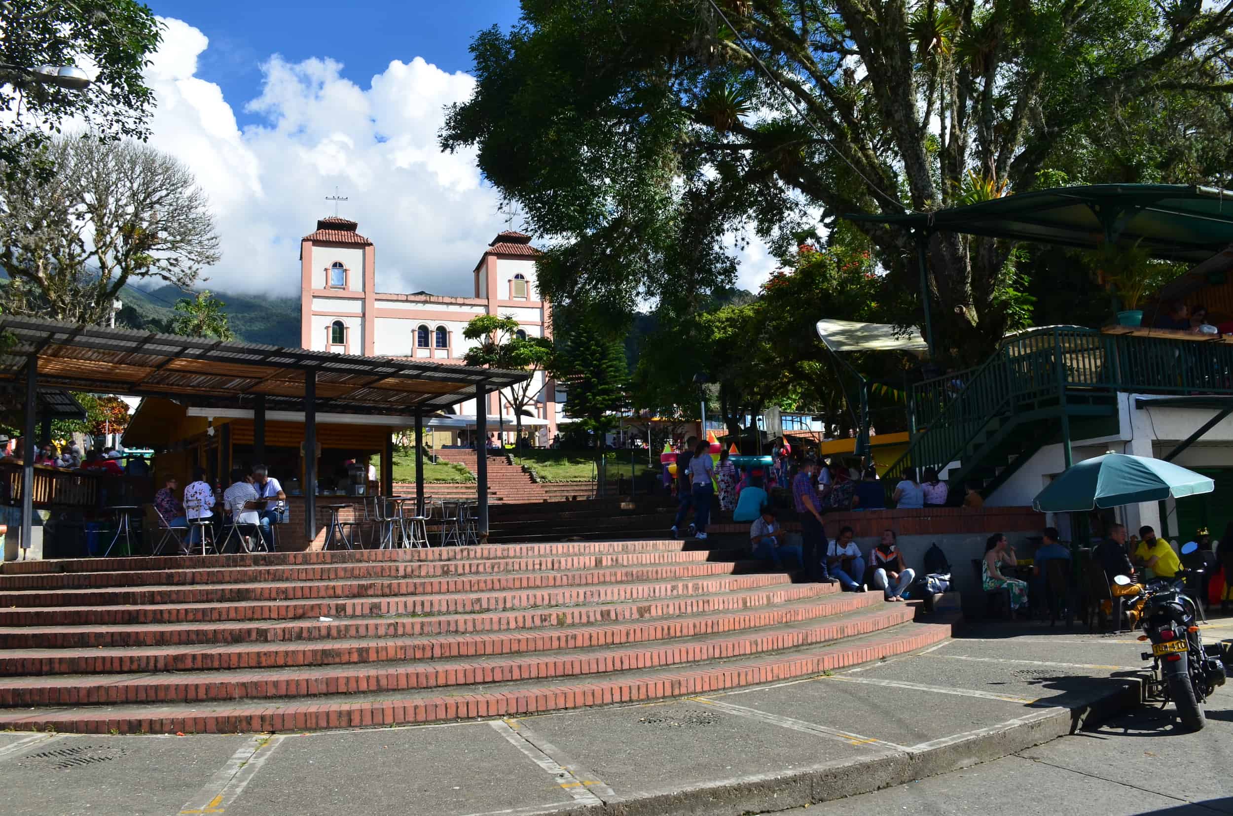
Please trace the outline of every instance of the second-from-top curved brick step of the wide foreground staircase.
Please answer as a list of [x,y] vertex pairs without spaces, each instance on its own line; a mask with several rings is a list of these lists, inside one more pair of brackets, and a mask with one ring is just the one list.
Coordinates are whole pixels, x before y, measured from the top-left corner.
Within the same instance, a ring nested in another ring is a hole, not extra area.
[[[360,578],[430,578],[444,576],[559,572],[603,567],[700,563],[710,560],[704,550],[665,550],[599,555],[547,555],[510,558],[461,558],[375,561],[307,566],[218,567],[189,569],[131,569],[126,572],[75,572],[0,576],[0,590],[102,589],[117,587],[201,585],[229,583],[346,581]],[[718,560],[715,560],[718,562]]]

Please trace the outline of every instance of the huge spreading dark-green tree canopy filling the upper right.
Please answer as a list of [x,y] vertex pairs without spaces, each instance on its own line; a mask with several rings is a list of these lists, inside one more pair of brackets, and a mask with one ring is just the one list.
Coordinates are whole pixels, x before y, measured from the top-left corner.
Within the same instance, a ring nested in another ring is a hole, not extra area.
[[[1233,2],[716,1],[723,17],[709,0],[524,0],[519,25],[475,39],[476,92],[441,143],[477,147],[529,227],[560,239],[539,277],[555,301],[689,311],[731,279],[732,231],[787,251],[819,211],[832,223],[1026,191],[1076,150],[1144,153],[1154,133],[1202,128],[1198,153],[1229,157]],[[1164,163],[1205,180],[1211,157],[1195,159]],[[917,290],[915,237],[859,228],[898,290]],[[1012,251],[931,238],[943,354],[980,357],[1002,334]]]

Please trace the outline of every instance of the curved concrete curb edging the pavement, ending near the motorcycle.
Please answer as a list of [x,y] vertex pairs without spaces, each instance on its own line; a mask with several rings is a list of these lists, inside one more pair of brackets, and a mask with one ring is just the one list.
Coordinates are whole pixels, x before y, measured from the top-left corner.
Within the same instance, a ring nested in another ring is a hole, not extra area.
[[[646,790],[599,805],[535,809],[567,816],[741,816],[788,810],[868,794],[1000,759],[1079,730],[1091,728],[1143,699],[1141,678],[1110,678],[1116,689],[1065,706],[1037,709],[1015,720],[943,737],[907,749],[872,748],[861,757],[826,762],[793,773],[769,773]],[[605,799],[605,798],[602,798]]]

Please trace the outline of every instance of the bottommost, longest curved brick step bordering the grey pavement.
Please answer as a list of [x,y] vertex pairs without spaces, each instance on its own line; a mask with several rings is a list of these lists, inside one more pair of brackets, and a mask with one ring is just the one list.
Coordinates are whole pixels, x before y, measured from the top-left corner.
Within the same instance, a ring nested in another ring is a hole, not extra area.
[[[16,711],[0,714],[0,728],[80,733],[213,733],[290,731],[379,725],[441,722],[467,717],[538,714],[610,703],[634,703],[727,688],[809,677],[830,669],[903,655],[951,635],[951,618],[905,622],[872,635],[847,637],[778,655],[718,661],[710,664],[625,671],[586,683],[509,683],[433,690],[300,698],[258,706],[207,708],[201,704],[152,704],[99,709]],[[482,677],[482,671],[480,672]]]

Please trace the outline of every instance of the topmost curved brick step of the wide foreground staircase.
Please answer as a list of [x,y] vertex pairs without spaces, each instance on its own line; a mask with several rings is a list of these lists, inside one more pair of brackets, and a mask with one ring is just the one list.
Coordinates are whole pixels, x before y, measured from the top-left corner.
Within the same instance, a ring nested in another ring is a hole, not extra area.
[[[620,552],[674,552],[679,541],[672,539],[634,539],[603,542],[602,551]],[[588,555],[597,549],[571,542],[543,542],[535,545],[483,545],[466,547],[425,547],[417,550],[329,550],[311,552],[245,552],[223,556],[125,556],[117,558],[58,558],[49,561],[7,561],[0,563],[0,574],[46,574],[60,572],[126,572],[144,569],[196,569],[219,567],[300,566],[319,563],[351,563],[358,561],[434,561],[512,558],[551,555]]]

